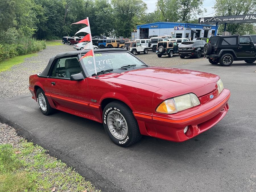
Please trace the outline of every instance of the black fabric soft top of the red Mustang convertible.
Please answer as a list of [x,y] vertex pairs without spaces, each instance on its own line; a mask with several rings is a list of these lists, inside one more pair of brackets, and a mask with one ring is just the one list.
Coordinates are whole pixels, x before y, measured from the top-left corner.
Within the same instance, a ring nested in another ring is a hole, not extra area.
[[[52,56],[48,62],[48,65],[46,66],[46,68],[44,69],[44,71],[40,74],[38,74],[39,76],[44,76],[47,77],[48,76],[48,72],[51,69],[51,65],[53,63],[53,61],[59,57],[67,57],[67,56],[77,56],[80,55],[83,56],[85,53],[87,53],[89,50],[88,49],[84,49],[81,51],[69,51],[69,52],[65,52],[65,53],[59,53],[55,56]],[[112,48],[112,49],[94,49],[93,50],[94,53],[110,53],[110,52],[127,52],[127,49],[117,49],[117,48]]]

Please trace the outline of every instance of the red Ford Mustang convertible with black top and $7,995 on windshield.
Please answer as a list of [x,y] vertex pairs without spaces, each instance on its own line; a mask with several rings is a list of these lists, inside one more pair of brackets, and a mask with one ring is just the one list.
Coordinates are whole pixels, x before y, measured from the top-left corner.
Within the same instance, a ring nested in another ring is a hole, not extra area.
[[210,73],[149,67],[125,49],[88,50],[51,57],[29,77],[44,115],[54,109],[103,123],[110,139],[129,146],[141,135],[186,141],[210,129],[228,111],[230,91]]

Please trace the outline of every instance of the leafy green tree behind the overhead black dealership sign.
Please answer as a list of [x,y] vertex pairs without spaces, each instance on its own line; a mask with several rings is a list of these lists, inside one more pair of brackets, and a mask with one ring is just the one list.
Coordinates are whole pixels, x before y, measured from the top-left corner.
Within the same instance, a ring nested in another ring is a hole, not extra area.
[[[256,13],[256,1],[245,0],[245,1],[235,1],[235,0],[216,0],[213,8],[215,9],[216,16],[222,15],[246,15]],[[224,25],[220,25],[218,28],[219,32],[224,31]],[[226,31],[232,34],[255,34],[253,24],[227,24]]]

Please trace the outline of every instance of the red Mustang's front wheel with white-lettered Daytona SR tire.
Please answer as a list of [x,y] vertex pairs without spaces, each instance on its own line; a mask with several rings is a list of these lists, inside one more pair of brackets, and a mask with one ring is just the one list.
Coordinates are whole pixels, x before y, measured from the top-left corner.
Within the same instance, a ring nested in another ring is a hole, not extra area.
[[119,146],[127,147],[141,139],[131,109],[122,102],[109,103],[103,110],[102,121],[108,137]]

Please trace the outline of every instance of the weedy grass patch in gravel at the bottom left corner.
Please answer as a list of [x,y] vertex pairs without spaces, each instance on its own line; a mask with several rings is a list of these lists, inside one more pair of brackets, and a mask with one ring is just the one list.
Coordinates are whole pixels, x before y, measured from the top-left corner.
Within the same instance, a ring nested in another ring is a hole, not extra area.
[[0,145],[0,192],[47,192],[53,187],[56,191],[98,191],[74,169],[46,154],[41,146],[26,140],[19,146],[14,149],[10,144]]

